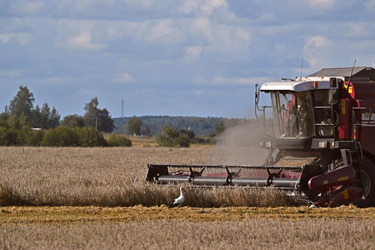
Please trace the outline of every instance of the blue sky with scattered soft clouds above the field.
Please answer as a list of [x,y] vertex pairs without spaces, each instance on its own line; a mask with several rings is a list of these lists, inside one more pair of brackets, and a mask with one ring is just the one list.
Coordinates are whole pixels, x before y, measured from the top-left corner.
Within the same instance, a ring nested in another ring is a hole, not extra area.
[[[304,52],[303,52],[304,51]],[[2,0],[0,110],[254,117],[255,84],[373,66],[375,0]],[[261,96],[260,104],[267,105]]]

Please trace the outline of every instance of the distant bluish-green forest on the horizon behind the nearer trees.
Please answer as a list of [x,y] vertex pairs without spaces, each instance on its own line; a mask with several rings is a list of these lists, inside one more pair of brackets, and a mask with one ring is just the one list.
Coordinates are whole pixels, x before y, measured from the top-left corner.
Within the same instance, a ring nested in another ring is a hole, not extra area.
[[[113,118],[114,120],[114,131],[115,133],[125,133],[127,131],[127,121],[131,117],[120,117]],[[194,116],[151,116],[145,115],[139,117],[143,124],[142,127],[148,127],[151,135],[157,135],[161,133],[163,127],[171,126],[177,129],[188,130],[189,127],[195,132],[195,135],[210,135],[214,134],[215,127],[217,127],[222,120],[228,120],[223,117],[194,117]],[[232,121],[240,121],[243,119],[230,119]]]

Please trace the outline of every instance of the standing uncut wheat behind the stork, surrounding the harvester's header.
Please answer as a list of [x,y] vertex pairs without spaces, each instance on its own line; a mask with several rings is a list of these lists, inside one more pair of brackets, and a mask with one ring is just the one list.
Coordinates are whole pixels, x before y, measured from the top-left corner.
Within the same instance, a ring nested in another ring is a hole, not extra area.
[[[207,163],[210,148],[1,148],[0,205],[154,206],[175,186],[145,183],[147,163]],[[138,176],[137,181],[133,181]],[[271,189],[186,186],[190,207],[278,207],[295,201]],[[265,199],[267,197],[267,199]]]

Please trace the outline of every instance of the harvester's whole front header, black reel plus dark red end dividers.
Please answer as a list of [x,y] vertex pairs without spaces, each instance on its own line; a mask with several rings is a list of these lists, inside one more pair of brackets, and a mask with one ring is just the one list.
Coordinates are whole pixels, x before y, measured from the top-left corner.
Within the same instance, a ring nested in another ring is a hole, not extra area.
[[[146,181],[158,184],[189,183],[197,187],[274,187],[303,195],[317,207],[349,205],[362,198],[353,183],[352,166],[323,173],[318,165],[189,165],[149,163]],[[322,195],[324,193],[324,195]],[[341,198],[344,197],[344,198]]]

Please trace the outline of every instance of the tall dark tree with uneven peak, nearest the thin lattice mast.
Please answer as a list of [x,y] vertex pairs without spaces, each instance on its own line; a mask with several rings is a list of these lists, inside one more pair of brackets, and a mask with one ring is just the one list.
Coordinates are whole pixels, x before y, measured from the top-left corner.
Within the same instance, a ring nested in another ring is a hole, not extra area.
[[86,113],[83,120],[88,127],[96,128],[101,132],[112,132],[114,129],[113,119],[110,112],[105,109],[98,108],[98,97],[94,97],[89,103],[86,103],[84,110]]

